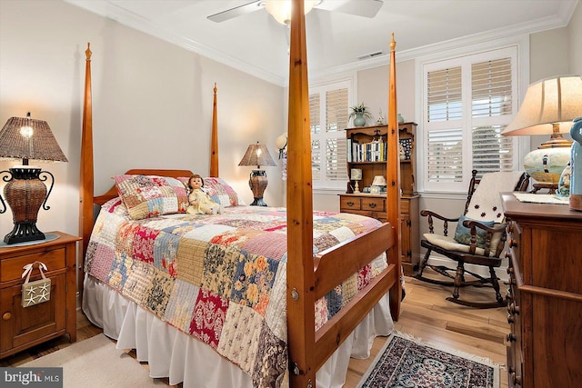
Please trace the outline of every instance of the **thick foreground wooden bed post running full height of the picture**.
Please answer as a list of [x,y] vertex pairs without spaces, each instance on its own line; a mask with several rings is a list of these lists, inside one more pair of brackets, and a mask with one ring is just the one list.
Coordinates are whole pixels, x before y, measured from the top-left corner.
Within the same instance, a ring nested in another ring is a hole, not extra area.
[[[303,0],[293,0],[289,49],[287,156],[287,329],[289,385],[315,387],[313,190],[306,28]],[[289,319],[293,317],[293,319]]]

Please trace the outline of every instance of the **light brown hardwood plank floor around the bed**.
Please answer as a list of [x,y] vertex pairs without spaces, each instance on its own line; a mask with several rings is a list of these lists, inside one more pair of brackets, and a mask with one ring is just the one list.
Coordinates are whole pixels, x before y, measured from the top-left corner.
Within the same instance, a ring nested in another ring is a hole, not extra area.
[[[506,293],[503,286],[502,294]],[[450,295],[449,287],[428,284],[406,277],[406,298],[401,306],[400,319],[395,323],[396,330],[408,333],[430,343],[438,343],[447,348],[465,353],[487,357],[502,366],[506,363],[504,339],[509,333],[507,309],[496,308],[478,310],[450,303],[445,300]],[[473,300],[491,300],[491,289],[466,287],[461,295]],[[77,311],[77,342],[102,333],[102,330],[89,323],[83,313]],[[352,359],[346,376],[346,388],[356,387],[378,351],[386,343],[385,337],[374,341],[371,355],[366,360]],[[70,346],[68,337],[42,343],[25,352],[17,353],[0,360],[0,366],[18,366],[45,354],[56,352]],[[130,352],[132,354],[133,352]],[[135,353],[133,353],[135,357]],[[145,364],[145,367],[146,364]],[[501,388],[507,387],[505,369],[500,373]],[[167,384],[167,381],[166,381]]]

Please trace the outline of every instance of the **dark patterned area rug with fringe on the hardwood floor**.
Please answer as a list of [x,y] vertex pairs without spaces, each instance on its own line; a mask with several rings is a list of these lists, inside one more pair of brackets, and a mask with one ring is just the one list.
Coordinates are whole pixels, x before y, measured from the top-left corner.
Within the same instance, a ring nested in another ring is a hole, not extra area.
[[438,350],[396,333],[370,365],[358,388],[498,388],[499,367],[490,360]]

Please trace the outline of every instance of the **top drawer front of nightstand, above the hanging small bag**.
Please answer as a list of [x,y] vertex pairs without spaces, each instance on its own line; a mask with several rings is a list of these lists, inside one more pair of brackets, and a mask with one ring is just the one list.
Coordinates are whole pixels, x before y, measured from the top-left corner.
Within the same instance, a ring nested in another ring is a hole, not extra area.
[[[23,267],[29,263],[43,262],[46,265],[46,272],[59,270],[65,268],[65,248],[54,249],[51,251],[39,252],[35,254],[23,254],[22,256],[15,256],[5,259],[0,263],[0,282],[9,282],[11,280],[18,280],[22,275]],[[33,273],[38,275],[38,270]]]

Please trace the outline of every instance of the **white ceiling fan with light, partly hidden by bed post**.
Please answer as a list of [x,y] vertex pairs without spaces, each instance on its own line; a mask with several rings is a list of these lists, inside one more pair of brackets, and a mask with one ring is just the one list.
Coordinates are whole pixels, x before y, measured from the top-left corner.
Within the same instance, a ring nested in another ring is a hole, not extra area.
[[[306,0],[306,13],[309,12],[311,8],[317,8],[326,11],[372,18],[376,16],[383,4],[383,0]],[[283,10],[285,7],[288,8],[288,6],[290,6],[290,0],[258,0],[227,9],[226,11],[214,15],[209,15],[207,16],[207,19],[216,23],[221,23],[241,15],[266,9],[269,14],[276,18],[277,22],[288,25],[290,11],[285,12]]]

